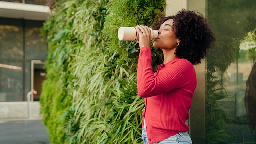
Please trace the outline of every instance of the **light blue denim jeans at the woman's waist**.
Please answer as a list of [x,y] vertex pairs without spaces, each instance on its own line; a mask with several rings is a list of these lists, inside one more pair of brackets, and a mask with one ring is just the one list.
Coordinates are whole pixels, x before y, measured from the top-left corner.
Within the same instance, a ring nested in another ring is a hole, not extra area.
[[[149,144],[146,128],[142,128],[142,140],[144,144]],[[179,132],[176,135],[152,144],[192,144],[192,141],[188,135],[188,132]]]

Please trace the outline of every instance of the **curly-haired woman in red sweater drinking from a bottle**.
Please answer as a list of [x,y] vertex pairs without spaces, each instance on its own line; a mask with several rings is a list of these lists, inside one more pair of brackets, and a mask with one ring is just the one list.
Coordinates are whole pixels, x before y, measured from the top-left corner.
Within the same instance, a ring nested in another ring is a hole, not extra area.
[[138,95],[144,97],[144,144],[192,144],[186,120],[197,85],[193,65],[200,64],[215,41],[207,21],[195,11],[181,10],[155,24],[153,47],[163,52],[163,64],[153,72],[151,36],[147,26],[137,26],[140,54]]

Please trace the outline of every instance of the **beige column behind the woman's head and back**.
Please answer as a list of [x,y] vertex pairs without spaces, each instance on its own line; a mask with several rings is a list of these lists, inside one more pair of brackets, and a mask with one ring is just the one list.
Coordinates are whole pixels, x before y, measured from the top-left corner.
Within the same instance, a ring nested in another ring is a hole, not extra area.
[[[183,8],[197,10],[204,17],[207,16],[206,0],[166,0],[165,14],[166,16],[175,15]],[[192,100],[190,119],[188,120],[189,133],[193,144],[204,144],[206,132],[206,60],[203,59],[201,64],[195,66],[195,69],[198,84]]]

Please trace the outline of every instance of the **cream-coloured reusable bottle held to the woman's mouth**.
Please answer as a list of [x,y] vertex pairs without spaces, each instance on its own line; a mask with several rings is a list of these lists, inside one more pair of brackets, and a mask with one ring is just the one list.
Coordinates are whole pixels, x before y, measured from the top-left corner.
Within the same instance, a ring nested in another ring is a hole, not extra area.
[[[151,39],[158,37],[158,31],[150,29]],[[117,32],[118,39],[122,41],[137,41],[139,40],[139,34],[135,27],[120,27]]]

